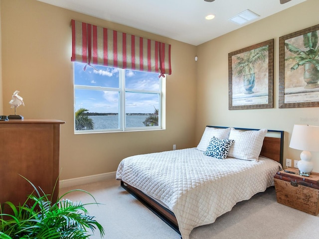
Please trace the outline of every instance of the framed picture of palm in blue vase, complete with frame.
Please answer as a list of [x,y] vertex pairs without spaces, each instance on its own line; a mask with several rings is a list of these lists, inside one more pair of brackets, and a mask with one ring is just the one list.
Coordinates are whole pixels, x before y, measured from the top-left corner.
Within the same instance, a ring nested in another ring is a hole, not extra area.
[[228,53],[228,109],[274,107],[274,39]]

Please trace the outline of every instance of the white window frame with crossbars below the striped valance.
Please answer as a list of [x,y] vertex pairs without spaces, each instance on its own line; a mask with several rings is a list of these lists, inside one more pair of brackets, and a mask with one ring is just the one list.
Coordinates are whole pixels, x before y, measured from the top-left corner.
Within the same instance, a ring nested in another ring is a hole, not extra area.
[[[74,62],[76,63],[76,62]],[[105,66],[103,66],[105,67]],[[166,77],[159,77],[159,91],[152,90],[141,90],[141,89],[130,89],[125,87],[126,71],[134,71],[130,69],[121,69],[115,67],[109,67],[119,70],[119,88],[112,87],[102,87],[102,86],[84,86],[75,84],[75,73],[73,71],[73,100],[74,100],[74,112],[73,112],[73,126],[74,134],[83,133],[107,133],[107,132],[128,132],[128,131],[149,131],[149,130],[162,130],[165,129],[165,88],[166,88]],[[75,69],[73,64],[73,69]],[[152,72],[149,72],[152,73]],[[154,74],[154,73],[152,73]],[[77,89],[82,90],[95,90],[95,91],[113,91],[119,92],[119,113],[118,113],[118,125],[119,128],[109,128],[109,129],[89,129],[89,130],[76,130],[75,129],[75,112],[76,112],[76,95],[75,91]],[[127,93],[137,93],[137,94],[154,94],[159,95],[159,125],[158,126],[138,126],[138,127],[127,127],[127,113],[126,112],[126,95]]]

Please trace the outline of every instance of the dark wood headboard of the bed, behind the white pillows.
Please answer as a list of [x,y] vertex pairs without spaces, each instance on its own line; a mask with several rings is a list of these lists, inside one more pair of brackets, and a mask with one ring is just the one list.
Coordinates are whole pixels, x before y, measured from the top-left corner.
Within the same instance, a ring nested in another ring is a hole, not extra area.
[[[214,127],[214,128],[229,128],[226,126],[212,126],[207,125],[207,127]],[[233,127],[237,130],[259,130],[256,128],[237,128]],[[264,139],[264,143],[260,152],[261,156],[271,158],[281,165],[284,162],[284,132],[282,130],[270,130],[268,129],[267,134],[274,134],[276,136],[266,136]]]

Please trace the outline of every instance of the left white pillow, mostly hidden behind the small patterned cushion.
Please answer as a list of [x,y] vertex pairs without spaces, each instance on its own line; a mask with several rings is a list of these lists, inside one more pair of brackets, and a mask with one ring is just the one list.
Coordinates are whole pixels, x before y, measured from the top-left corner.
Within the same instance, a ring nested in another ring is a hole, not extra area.
[[200,151],[206,151],[212,137],[228,139],[230,129],[231,128],[213,128],[206,126],[204,133],[201,136],[200,142],[197,145],[197,149]]

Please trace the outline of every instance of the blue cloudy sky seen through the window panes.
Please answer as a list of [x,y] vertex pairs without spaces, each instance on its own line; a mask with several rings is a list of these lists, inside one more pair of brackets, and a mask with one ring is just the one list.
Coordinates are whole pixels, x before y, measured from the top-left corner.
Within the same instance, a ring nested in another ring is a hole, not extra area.
[[[80,108],[90,113],[119,113],[121,71],[104,66],[87,66],[74,62],[74,85],[96,87],[75,89],[75,111]],[[132,90],[160,91],[158,73],[125,70],[125,87]],[[105,87],[99,89],[97,87]],[[158,94],[126,93],[126,113],[154,113],[159,109]]]

